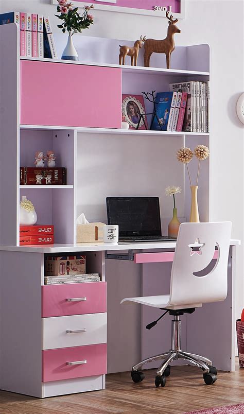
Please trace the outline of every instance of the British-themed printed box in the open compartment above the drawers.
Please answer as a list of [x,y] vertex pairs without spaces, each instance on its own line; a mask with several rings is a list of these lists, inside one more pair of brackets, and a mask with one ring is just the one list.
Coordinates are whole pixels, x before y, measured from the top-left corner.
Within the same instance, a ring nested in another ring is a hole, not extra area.
[[45,276],[85,273],[85,256],[48,256],[45,260]]

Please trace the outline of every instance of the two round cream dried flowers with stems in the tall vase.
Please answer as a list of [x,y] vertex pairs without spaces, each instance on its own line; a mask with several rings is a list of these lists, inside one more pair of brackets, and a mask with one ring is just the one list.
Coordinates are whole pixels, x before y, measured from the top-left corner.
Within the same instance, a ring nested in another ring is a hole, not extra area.
[[193,159],[194,155],[195,155],[195,157],[198,158],[198,171],[197,171],[197,180],[196,180],[196,185],[197,185],[198,184],[199,171],[200,171],[200,162],[203,161],[203,160],[206,160],[206,158],[209,157],[210,150],[205,145],[197,145],[196,148],[194,149],[194,152],[191,151],[190,148],[183,147],[183,148],[178,149],[177,154],[176,154],[177,160],[182,162],[183,164],[186,164],[191,186],[193,184],[192,184],[191,178],[190,178],[190,171],[189,171],[188,163]]

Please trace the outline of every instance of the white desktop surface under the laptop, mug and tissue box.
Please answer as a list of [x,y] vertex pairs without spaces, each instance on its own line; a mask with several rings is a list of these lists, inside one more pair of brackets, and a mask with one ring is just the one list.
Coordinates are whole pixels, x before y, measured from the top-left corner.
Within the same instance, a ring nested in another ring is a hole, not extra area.
[[[231,239],[230,246],[240,245],[240,240]],[[75,245],[54,244],[46,246],[0,246],[0,251],[32,253],[89,252],[115,250],[175,249],[176,241],[151,241],[147,243],[77,243]]]

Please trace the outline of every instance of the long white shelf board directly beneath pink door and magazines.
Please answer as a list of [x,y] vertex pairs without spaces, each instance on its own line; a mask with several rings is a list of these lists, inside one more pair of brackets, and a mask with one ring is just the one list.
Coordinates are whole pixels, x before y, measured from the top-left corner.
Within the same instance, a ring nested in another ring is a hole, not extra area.
[[76,130],[80,133],[91,133],[91,134],[132,134],[132,135],[209,135],[208,132],[187,132],[187,131],[146,131],[146,130],[133,130],[133,129],[114,129],[114,128],[80,128],[80,127],[61,127],[51,125],[21,125],[23,130]]

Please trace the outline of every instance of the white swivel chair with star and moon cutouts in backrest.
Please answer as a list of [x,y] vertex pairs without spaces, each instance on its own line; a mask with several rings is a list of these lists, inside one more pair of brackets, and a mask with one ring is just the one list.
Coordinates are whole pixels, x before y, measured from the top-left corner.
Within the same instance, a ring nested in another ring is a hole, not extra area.
[[[215,383],[217,370],[212,366],[212,361],[181,350],[180,315],[193,313],[203,303],[226,298],[231,227],[230,221],[182,223],[173,257],[169,295],[125,298],[121,301],[158,307],[173,315],[171,349],[134,365],[131,376],[135,383],[141,382],[145,377],[138,369],[158,359],[163,359],[163,362],[156,372],[156,387],[165,386],[165,377],[170,374],[169,364],[174,359],[184,359],[187,363],[202,368],[205,384]],[[218,256],[216,261],[213,261],[214,254]],[[159,319],[162,317],[163,315]],[[147,325],[147,328],[150,329],[159,319]]]

